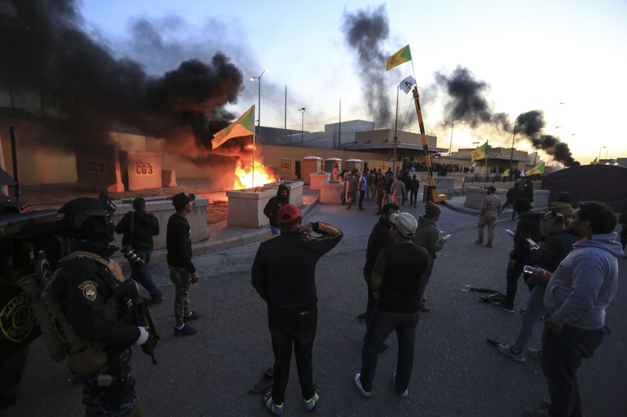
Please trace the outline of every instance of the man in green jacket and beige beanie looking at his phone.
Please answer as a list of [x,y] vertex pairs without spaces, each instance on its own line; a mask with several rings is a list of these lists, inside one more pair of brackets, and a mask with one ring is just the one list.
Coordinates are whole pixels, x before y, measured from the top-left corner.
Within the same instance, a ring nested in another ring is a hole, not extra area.
[[427,202],[424,205],[424,215],[418,218],[418,230],[414,235],[414,244],[424,247],[429,254],[429,266],[426,274],[424,274],[423,281],[420,282],[420,311],[431,311],[431,307],[426,305],[426,297],[424,297],[424,290],[429,283],[429,277],[433,272],[433,265],[435,264],[435,252],[439,252],[446,243],[446,239],[441,237],[438,225],[435,222],[440,220],[442,209],[434,202]]

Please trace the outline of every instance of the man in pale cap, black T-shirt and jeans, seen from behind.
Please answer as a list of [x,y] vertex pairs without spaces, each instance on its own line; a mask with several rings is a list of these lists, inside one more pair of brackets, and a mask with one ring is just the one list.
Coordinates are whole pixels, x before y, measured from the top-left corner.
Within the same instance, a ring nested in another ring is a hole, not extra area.
[[372,287],[379,289],[379,299],[372,308],[364,336],[361,372],[354,378],[357,390],[364,397],[372,394],[377,349],[391,332],[396,331],[398,337],[398,361],[392,380],[396,393],[401,397],[408,396],[414,365],[420,281],[427,269],[429,256],[423,247],[411,242],[418,226],[411,214],[392,214],[390,223],[394,246],[381,250],[372,270]]

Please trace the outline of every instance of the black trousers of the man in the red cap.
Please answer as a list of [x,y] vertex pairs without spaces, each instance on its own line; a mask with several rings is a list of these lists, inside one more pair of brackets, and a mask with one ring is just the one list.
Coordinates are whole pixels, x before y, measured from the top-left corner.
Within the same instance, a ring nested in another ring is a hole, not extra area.
[[268,310],[268,329],[275,355],[272,386],[272,399],[275,403],[282,404],[285,401],[285,389],[290,378],[292,344],[303,398],[310,399],[314,396],[312,350],[317,326],[318,308],[315,305],[301,312]]

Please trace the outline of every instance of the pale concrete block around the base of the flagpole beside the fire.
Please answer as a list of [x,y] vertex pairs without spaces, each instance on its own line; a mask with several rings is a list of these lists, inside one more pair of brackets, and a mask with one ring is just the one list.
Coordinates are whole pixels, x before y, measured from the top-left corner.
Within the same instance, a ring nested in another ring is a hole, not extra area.
[[229,214],[226,223],[233,226],[261,227],[270,224],[270,219],[263,214],[268,200],[277,195],[277,187],[243,188],[227,191]]

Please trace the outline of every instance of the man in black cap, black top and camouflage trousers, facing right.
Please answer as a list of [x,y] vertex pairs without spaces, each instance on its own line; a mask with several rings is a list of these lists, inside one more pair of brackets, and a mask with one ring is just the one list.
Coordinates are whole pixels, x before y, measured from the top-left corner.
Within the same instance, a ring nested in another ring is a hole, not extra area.
[[186,324],[198,319],[200,314],[189,309],[189,289],[198,282],[198,271],[192,263],[192,230],[187,222],[187,215],[194,207],[194,194],[178,193],[172,197],[176,213],[167,220],[166,245],[167,266],[170,280],[174,284],[174,336],[187,336],[198,330]]

